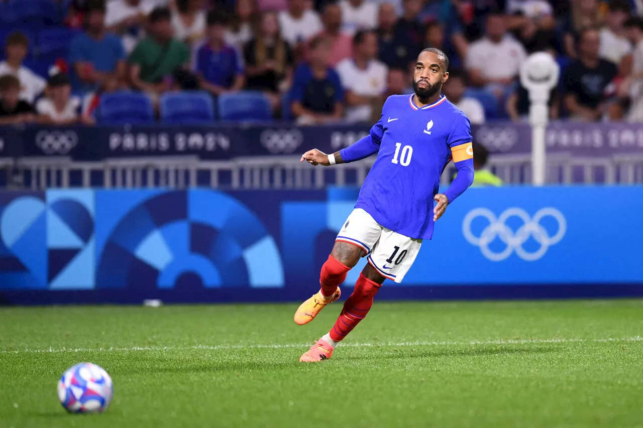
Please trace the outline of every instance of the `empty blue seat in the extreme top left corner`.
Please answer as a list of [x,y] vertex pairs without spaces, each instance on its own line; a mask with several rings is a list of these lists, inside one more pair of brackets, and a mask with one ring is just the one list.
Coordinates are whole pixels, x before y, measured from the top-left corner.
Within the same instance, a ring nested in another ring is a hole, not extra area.
[[9,0],[0,17],[5,24],[40,28],[60,24],[60,9],[51,0]]

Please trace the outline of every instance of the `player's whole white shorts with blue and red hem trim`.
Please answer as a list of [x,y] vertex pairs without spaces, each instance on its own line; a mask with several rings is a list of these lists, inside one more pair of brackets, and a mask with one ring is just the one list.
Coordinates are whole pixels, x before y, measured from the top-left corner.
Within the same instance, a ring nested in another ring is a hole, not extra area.
[[361,208],[350,213],[335,240],[363,249],[368,263],[381,276],[397,283],[404,279],[422,245],[421,239],[409,238],[380,226]]

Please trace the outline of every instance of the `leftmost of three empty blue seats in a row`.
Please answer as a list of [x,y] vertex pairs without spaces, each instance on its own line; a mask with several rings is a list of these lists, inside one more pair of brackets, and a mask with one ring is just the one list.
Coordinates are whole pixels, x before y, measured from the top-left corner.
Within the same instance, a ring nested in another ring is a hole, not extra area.
[[107,125],[153,123],[154,109],[145,94],[130,91],[104,94],[98,105],[98,121]]

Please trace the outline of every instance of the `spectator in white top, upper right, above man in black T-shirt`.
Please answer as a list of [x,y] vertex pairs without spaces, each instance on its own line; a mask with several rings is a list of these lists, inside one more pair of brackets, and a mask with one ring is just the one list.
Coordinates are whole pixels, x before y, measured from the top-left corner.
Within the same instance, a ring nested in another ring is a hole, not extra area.
[[620,64],[620,60],[632,51],[624,28],[629,17],[629,4],[626,0],[612,0],[608,5],[605,25],[601,28],[601,58]]

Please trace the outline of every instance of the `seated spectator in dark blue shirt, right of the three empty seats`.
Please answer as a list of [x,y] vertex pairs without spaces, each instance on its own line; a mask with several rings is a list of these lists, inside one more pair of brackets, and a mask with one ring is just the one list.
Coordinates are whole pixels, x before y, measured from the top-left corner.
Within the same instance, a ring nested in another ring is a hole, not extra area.
[[339,121],[344,91],[340,76],[328,66],[331,45],[323,37],[311,40],[309,62],[297,67],[293,79],[292,110],[299,125]]

